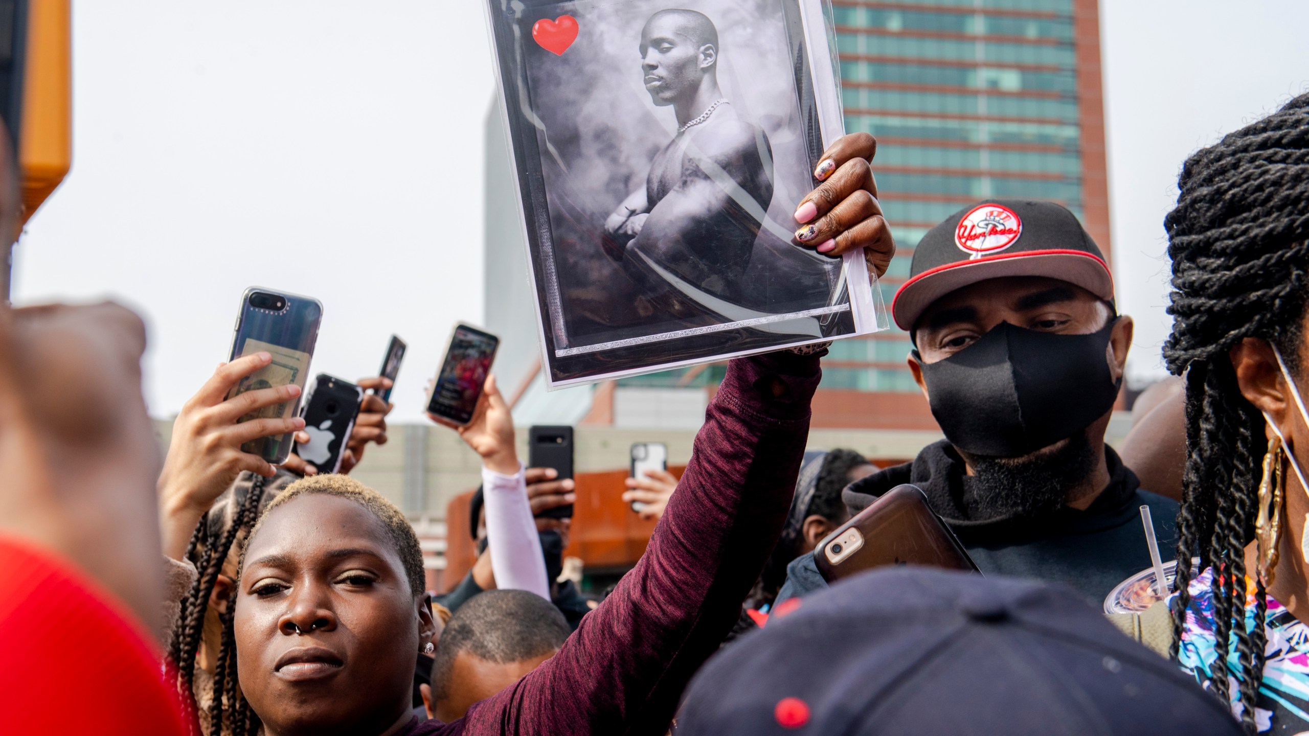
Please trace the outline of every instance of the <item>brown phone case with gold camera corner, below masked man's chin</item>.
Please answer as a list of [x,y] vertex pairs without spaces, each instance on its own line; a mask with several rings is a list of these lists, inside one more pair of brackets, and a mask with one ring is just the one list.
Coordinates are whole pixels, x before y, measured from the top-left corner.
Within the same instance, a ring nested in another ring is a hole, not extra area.
[[924,564],[979,572],[950,528],[908,483],[882,494],[814,550],[823,580],[834,583],[885,564]]

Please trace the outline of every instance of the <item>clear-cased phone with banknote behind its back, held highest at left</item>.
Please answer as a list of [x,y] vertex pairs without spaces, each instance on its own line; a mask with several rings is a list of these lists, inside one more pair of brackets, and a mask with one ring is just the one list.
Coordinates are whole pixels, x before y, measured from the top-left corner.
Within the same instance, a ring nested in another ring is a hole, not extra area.
[[[276,312],[255,306],[251,304],[251,297],[255,295],[281,297],[285,300],[285,306]],[[314,343],[318,342],[318,326],[322,323],[322,317],[323,305],[317,299],[274,289],[247,288],[241,296],[241,312],[237,314],[228,360],[236,360],[251,352],[267,351],[272,354],[272,363],[241,378],[228,393],[228,398],[247,390],[287,384],[296,384],[304,389],[305,381],[309,378],[309,363],[314,354]],[[297,397],[287,403],[253,411],[238,422],[260,418],[291,418],[300,411],[300,403]],[[275,437],[251,440],[241,445],[241,449],[278,465],[287,461],[293,443],[295,435],[288,432]]]

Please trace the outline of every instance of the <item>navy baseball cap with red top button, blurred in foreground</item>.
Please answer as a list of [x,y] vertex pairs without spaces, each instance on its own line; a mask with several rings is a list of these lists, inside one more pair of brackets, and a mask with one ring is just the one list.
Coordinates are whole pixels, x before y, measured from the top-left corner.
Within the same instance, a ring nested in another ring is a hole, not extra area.
[[704,665],[678,736],[1241,733],[1064,585],[884,567],[798,602]]

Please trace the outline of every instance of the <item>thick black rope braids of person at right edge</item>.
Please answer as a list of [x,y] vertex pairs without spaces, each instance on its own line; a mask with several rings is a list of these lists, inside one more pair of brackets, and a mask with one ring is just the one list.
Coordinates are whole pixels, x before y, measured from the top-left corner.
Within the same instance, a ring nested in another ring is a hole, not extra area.
[[[1192,557],[1213,568],[1219,657],[1213,691],[1230,699],[1236,677],[1246,732],[1255,732],[1263,681],[1267,591],[1255,571],[1254,630],[1245,627],[1245,546],[1254,536],[1267,443],[1263,418],[1240,392],[1228,351],[1245,338],[1278,347],[1300,372],[1301,321],[1309,285],[1309,94],[1227,135],[1186,160],[1177,207],[1164,225],[1173,261],[1170,372],[1186,376],[1186,469],[1178,512],[1178,653],[1191,597]],[[1233,642],[1234,639],[1234,642]],[[1229,673],[1230,644],[1241,672]]]

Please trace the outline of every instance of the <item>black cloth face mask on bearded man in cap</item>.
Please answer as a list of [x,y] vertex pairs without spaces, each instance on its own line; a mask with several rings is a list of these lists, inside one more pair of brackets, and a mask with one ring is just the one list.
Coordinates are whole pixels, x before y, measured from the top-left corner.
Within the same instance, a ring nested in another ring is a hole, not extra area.
[[1105,360],[1117,321],[1089,335],[1000,322],[932,364],[915,350],[945,439],[971,454],[1021,457],[1089,427],[1118,398],[1122,378]]

